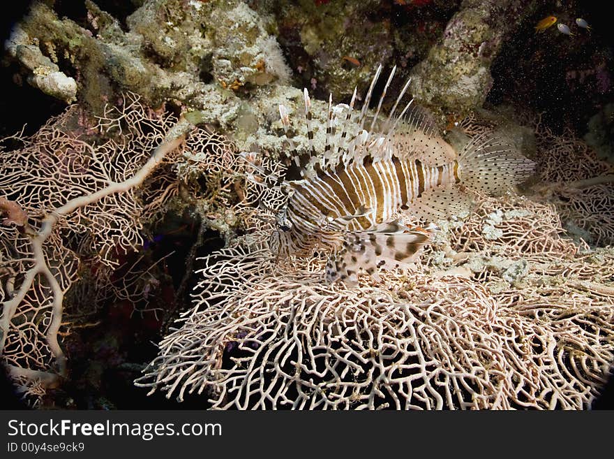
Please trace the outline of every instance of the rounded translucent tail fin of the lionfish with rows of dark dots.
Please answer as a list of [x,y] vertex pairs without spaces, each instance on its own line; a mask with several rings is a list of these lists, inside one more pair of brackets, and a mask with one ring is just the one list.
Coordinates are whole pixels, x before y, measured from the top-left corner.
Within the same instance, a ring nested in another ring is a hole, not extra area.
[[502,194],[529,178],[535,168],[516,147],[493,133],[473,138],[461,152],[461,182],[486,194]]

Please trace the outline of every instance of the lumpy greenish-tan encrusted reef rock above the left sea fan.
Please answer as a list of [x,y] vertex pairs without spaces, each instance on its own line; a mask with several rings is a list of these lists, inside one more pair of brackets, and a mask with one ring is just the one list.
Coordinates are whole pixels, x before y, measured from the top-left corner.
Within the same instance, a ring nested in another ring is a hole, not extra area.
[[[95,112],[119,92],[135,92],[149,105],[183,103],[203,110],[203,122],[234,127],[242,107],[234,93],[245,85],[283,84],[290,70],[260,17],[242,1],[227,6],[147,1],[126,19],[124,32],[92,1],[86,1],[85,27],[34,1],[6,48],[33,84],[41,72],[49,80],[57,64],[66,66],[78,76],[77,85],[70,78],[72,85],[64,82],[52,95],[68,102],[76,97]],[[41,49],[51,50],[51,58]]]

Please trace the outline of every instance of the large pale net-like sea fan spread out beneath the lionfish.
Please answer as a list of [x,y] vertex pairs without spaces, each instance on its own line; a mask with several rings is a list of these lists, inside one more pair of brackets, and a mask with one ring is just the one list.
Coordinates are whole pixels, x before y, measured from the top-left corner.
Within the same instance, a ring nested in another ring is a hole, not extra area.
[[137,385],[214,409],[586,409],[607,381],[614,260],[553,205],[477,196],[415,270],[355,288],[325,254],[278,258],[271,213],[251,216]]

